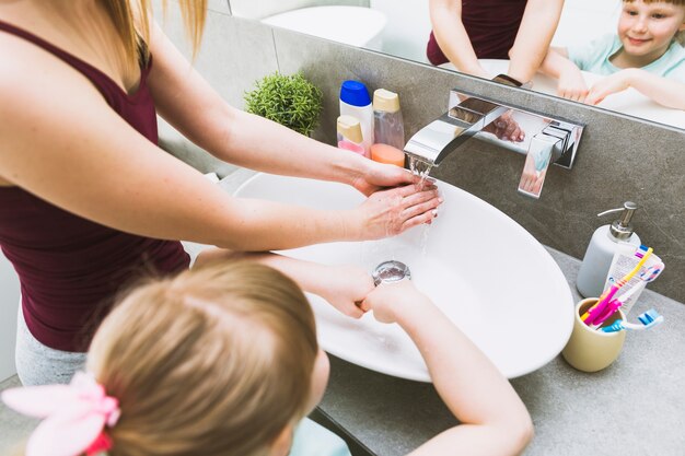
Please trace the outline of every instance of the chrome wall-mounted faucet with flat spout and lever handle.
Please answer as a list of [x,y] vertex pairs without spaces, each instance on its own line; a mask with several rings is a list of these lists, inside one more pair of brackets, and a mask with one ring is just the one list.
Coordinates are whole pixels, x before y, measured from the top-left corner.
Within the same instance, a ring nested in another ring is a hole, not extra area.
[[[516,121],[525,131],[524,142],[511,142],[484,131],[492,121],[507,114],[508,122]],[[503,105],[480,95],[462,91],[450,92],[449,109],[414,135],[405,153],[428,166],[439,166],[450,153],[473,137],[497,143],[526,155],[519,183],[523,195],[539,198],[550,163],[571,168],[578,151],[583,126],[550,119],[541,114]]]

